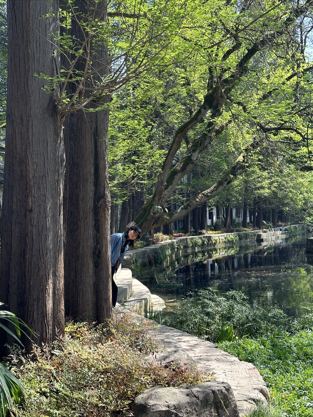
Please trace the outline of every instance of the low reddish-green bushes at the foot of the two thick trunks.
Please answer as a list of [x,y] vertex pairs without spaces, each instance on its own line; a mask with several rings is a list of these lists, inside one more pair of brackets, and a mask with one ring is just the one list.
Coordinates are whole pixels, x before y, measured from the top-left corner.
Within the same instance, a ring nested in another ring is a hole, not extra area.
[[63,351],[35,348],[31,356],[10,355],[10,370],[25,387],[19,417],[133,416],[134,397],[162,384],[198,384],[198,372],[165,369],[142,355],[162,347],[149,335],[152,325],[131,313],[116,313],[109,327],[67,323]]

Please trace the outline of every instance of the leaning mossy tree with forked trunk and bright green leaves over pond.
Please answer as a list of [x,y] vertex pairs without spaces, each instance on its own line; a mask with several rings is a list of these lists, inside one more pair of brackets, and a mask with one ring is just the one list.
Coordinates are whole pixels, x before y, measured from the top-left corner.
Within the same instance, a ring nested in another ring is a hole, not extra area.
[[[291,126],[299,114],[300,107],[295,103],[294,93],[290,94],[290,91],[286,92],[285,89],[296,80],[302,79],[304,73],[312,71],[312,66],[306,65],[302,57],[302,65],[299,67],[297,62],[288,58],[287,52],[288,47],[291,47],[291,44],[288,44],[290,32],[294,32],[300,17],[306,16],[309,19],[312,6],[312,0],[294,5],[287,1],[267,1],[260,9],[250,3],[225,2],[223,6],[217,5],[214,13],[211,11],[214,16],[213,19],[208,19],[207,27],[203,21],[196,26],[202,35],[199,35],[198,39],[192,37],[191,29],[189,32],[185,31],[183,40],[193,44],[197,53],[200,54],[201,51],[206,57],[207,90],[191,117],[177,128],[158,175],[155,191],[135,219],[143,231],[180,219],[195,207],[221,193],[246,170],[247,155],[260,147],[260,130],[295,130],[297,134],[301,131]],[[209,16],[209,11],[205,12]],[[193,24],[196,23],[191,21],[190,26],[194,28]],[[204,35],[207,33],[210,35]],[[281,66],[288,66],[286,76],[271,78],[271,72],[275,72],[274,60],[278,59],[279,52],[283,50],[282,45],[286,43],[286,58],[280,57],[279,60]],[[262,60],[268,65],[267,68],[261,66],[258,73],[258,61]],[[264,77],[265,82],[260,83],[260,76]],[[247,97],[249,90],[246,85],[252,91],[252,97]],[[277,98],[276,102],[273,100],[281,89],[286,92],[284,109],[279,103],[280,98]],[[294,88],[291,90],[294,92]],[[264,109],[270,105],[272,110],[266,113]],[[275,110],[275,106],[278,110]],[[279,114],[281,110],[284,111],[286,120]],[[230,169],[210,188],[183,203],[175,212],[167,212],[167,201],[173,195],[179,181],[192,170],[199,155],[209,150],[212,143],[221,135],[227,134],[229,129],[234,126],[239,126],[240,129],[241,120],[245,119],[248,133],[245,132],[243,135],[240,152],[237,151],[237,155],[234,153],[236,158]],[[275,126],[267,128],[270,122],[275,123]],[[204,125],[204,128],[199,129],[201,125]],[[308,128],[309,126],[308,124]],[[190,134],[193,130],[196,132]],[[177,162],[175,158],[183,150],[182,145],[186,142],[187,134],[189,141]],[[301,134],[304,136],[304,133],[300,132]]]

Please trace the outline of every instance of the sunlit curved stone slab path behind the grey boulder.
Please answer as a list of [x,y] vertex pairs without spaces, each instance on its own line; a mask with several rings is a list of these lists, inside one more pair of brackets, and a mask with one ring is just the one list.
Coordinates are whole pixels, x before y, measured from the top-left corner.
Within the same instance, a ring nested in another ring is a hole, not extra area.
[[240,416],[248,414],[257,402],[269,401],[268,388],[251,363],[240,361],[214,343],[181,330],[157,325],[154,331],[156,339],[166,348],[171,351],[181,349],[193,358],[201,371],[213,373],[216,381],[227,382],[233,390]]

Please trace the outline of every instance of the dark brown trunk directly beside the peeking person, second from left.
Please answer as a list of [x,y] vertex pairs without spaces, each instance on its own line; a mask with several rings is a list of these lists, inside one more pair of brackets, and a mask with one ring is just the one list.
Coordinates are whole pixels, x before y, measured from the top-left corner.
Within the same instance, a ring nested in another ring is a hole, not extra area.
[[[102,19],[106,20],[106,1],[96,4],[96,14],[100,16],[105,11]],[[75,5],[83,15],[89,14],[89,2],[77,0]],[[72,19],[69,35],[73,39],[82,37],[75,19]],[[94,52],[94,65],[106,64],[106,46]],[[78,60],[76,65],[77,69],[83,68],[85,61]],[[98,75],[104,75],[106,68]],[[97,104],[90,104],[90,110],[108,102],[109,97],[104,96]],[[64,129],[68,181],[64,204],[66,313],[100,322],[112,317],[108,122],[108,110],[80,110],[67,117]]]

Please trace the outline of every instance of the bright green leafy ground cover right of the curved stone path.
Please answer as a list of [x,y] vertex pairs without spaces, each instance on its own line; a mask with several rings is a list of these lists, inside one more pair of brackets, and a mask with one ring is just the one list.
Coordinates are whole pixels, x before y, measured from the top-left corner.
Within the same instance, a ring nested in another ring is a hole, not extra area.
[[219,347],[256,366],[267,383],[271,404],[285,416],[313,417],[312,330],[291,336],[243,338]]

